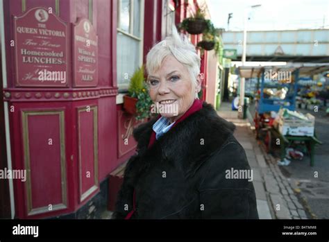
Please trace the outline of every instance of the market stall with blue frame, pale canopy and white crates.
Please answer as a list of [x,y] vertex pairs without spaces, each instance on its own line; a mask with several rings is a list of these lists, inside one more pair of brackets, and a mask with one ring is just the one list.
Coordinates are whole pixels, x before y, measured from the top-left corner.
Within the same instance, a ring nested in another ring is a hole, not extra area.
[[[305,153],[310,155],[310,165],[314,165],[314,146],[321,144],[321,141],[317,139],[314,130],[314,117],[309,120],[310,116],[306,117],[294,112],[298,105],[296,103],[298,80],[326,73],[328,69],[327,63],[239,67],[240,77],[260,80],[260,89],[256,90],[255,132],[258,139],[264,141],[267,152],[271,152],[273,141],[280,146],[279,165],[289,164],[287,148],[295,142],[306,147]],[[308,127],[308,131],[312,130],[309,134],[303,132],[305,123],[307,123],[305,127]],[[299,131],[296,132],[296,130]]]

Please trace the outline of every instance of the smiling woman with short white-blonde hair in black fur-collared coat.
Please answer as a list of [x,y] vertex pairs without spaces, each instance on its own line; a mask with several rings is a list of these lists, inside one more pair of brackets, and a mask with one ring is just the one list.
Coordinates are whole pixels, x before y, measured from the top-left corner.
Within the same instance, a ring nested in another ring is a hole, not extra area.
[[252,178],[238,176],[251,168],[235,126],[197,98],[195,47],[175,28],[149,51],[146,70],[160,115],[134,130],[137,154],[112,218],[258,218]]

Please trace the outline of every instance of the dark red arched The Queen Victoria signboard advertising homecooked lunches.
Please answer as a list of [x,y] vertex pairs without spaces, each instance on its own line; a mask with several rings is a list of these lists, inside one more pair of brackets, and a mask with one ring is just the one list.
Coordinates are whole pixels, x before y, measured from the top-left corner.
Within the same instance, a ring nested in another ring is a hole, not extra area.
[[16,85],[66,87],[69,34],[67,24],[45,8],[14,17]]

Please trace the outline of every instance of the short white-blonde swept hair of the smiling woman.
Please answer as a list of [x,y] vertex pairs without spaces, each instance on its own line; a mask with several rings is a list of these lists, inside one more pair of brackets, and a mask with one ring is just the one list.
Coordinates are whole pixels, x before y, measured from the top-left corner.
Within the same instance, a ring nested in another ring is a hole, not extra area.
[[196,77],[200,74],[201,59],[196,53],[195,46],[189,42],[186,35],[179,34],[176,27],[172,28],[172,35],[166,37],[152,47],[146,56],[146,71],[148,74],[160,69],[163,60],[168,55],[173,55],[178,62],[182,63],[189,72],[196,85]]

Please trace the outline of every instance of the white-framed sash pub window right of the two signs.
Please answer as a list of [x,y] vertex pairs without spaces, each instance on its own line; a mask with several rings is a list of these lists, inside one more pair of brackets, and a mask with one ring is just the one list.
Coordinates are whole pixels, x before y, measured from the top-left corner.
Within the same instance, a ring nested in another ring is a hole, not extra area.
[[143,62],[144,0],[119,0],[117,12],[117,84],[124,92]]

